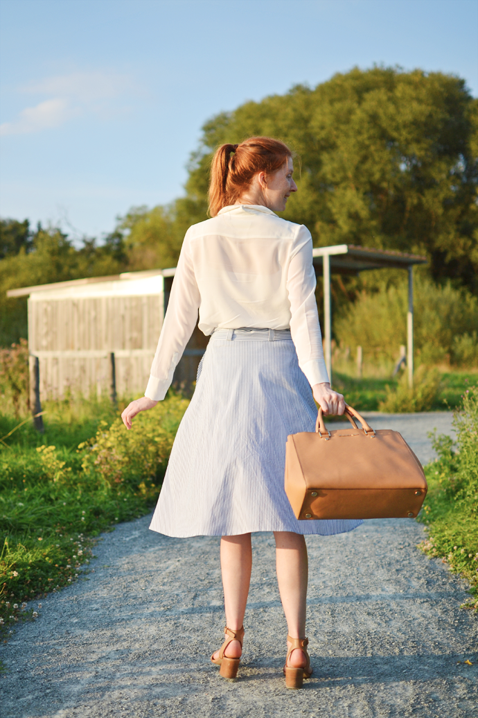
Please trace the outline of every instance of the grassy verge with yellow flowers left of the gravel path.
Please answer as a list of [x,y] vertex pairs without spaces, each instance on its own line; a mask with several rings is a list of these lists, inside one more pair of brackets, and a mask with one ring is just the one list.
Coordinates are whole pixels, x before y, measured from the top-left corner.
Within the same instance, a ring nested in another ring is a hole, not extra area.
[[[171,393],[126,432],[107,401],[45,406],[0,448],[0,635],[35,617],[39,600],[72,583],[94,538],[156,502],[188,402]],[[0,437],[20,422],[0,415]]]

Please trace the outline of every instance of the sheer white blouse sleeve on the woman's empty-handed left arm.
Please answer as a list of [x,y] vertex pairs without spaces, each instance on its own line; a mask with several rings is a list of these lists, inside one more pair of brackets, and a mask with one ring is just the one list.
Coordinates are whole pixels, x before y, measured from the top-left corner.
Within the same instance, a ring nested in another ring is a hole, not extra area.
[[186,233],[145,391],[145,396],[154,401],[161,401],[171,386],[174,370],[196,326],[200,301]]

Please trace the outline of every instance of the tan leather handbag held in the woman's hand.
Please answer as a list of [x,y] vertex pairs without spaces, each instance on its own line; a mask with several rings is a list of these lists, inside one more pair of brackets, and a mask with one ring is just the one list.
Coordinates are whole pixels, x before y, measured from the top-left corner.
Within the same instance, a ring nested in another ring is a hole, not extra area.
[[[426,496],[421,463],[401,434],[374,431],[347,406],[352,429],[287,437],[285,493],[296,518],[414,518]],[[360,421],[359,429],[355,419]]]

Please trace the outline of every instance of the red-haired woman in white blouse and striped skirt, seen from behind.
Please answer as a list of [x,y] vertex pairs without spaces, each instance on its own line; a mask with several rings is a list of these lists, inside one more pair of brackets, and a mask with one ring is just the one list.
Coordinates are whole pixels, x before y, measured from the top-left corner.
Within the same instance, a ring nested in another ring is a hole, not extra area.
[[211,660],[228,678],[242,654],[251,532],[274,532],[289,631],[286,685],[299,688],[312,673],[304,534],[330,536],[362,522],[297,521],[284,490],[287,435],[314,431],[314,398],[326,414],[345,408],[324,363],[310,232],[275,214],[297,192],[292,173],[292,152],[276,139],[216,151],[211,219],[186,233],[145,396],[122,416],[130,429],[133,416],[164,398],[199,311],[211,340],[150,528],[222,537],[226,637]]

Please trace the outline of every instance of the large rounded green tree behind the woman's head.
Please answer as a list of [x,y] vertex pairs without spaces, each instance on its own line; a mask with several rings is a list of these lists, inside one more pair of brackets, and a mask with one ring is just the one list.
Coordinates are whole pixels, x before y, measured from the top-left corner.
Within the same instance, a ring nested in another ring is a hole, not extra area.
[[478,292],[478,101],[464,80],[354,68],[215,116],[186,185],[203,218],[212,152],[254,134],[297,151],[300,191],[283,216],[306,224],[316,246],[424,253],[435,280]]

